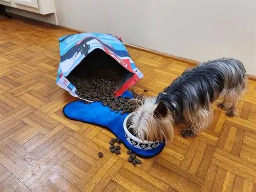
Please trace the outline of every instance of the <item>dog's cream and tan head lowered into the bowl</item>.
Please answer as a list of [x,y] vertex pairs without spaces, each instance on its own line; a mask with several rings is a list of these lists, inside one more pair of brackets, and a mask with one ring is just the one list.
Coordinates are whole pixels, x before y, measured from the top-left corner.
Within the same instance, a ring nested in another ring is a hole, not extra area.
[[174,118],[166,102],[157,97],[144,97],[133,92],[138,104],[130,121],[136,137],[148,141],[171,142],[174,138]]

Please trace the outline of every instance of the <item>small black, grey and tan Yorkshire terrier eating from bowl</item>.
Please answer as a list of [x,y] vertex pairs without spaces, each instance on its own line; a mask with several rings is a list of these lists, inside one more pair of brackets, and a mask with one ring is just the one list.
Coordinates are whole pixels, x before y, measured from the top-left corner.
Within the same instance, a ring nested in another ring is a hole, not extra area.
[[130,128],[142,140],[170,142],[174,126],[186,124],[184,138],[195,137],[211,122],[211,104],[229,117],[236,114],[239,98],[246,87],[246,71],[236,59],[220,58],[200,63],[176,78],[156,97],[144,97],[133,92],[139,104],[130,121]]

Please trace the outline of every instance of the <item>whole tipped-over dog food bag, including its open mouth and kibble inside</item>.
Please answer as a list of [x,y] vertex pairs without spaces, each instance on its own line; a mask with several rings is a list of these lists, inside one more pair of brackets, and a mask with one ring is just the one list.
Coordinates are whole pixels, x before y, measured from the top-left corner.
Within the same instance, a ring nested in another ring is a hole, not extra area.
[[59,38],[56,83],[72,96],[98,101],[114,92],[121,96],[143,77],[118,36],[80,33]]

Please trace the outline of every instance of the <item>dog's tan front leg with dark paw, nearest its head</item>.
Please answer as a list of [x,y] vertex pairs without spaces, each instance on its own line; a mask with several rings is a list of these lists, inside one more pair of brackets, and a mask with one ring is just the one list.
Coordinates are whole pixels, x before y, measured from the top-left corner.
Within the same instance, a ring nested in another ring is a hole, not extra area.
[[181,131],[184,138],[196,137],[197,133],[204,130],[211,122],[212,112],[211,109],[206,110],[201,108],[199,111],[186,113],[186,120],[188,126]]

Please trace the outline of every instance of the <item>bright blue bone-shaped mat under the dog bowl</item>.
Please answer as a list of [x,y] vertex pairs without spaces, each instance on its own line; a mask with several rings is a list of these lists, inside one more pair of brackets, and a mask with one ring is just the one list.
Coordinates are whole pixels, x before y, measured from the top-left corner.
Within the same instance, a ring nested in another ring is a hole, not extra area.
[[[132,97],[130,91],[126,91],[122,97]],[[122,143],[133,151],[137,156],[143,158],[151,158],[159,153],[164,148],[164,143],[152,150],[140,150],[132,146],[125,139],[125,132],[123,130],[123,121],[128,114],[121,115],[110,110],[108,106],[103,106],[102,102],[94,102],[91,104],[84,104],[83,101],[74,101],[68,103],[63,108],[63,114],[72,120],[81,121],[84,123],[95,124],[110,130],[116,137],[120,138]]]

